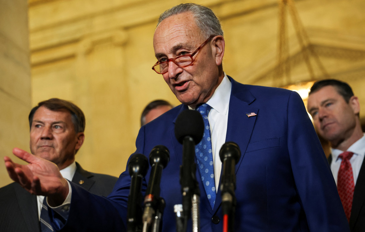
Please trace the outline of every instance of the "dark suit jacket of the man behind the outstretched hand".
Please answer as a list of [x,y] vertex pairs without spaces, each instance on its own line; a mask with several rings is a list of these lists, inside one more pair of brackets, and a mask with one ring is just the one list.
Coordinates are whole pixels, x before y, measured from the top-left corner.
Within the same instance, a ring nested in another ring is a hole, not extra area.
[[[72,181],[91,193],[108,196],[118,180],[114,176],[88,172],[77,162],[76,166]],[[0,231],[40,231],[37,196],[30,194],[16,182],[0,188]]]

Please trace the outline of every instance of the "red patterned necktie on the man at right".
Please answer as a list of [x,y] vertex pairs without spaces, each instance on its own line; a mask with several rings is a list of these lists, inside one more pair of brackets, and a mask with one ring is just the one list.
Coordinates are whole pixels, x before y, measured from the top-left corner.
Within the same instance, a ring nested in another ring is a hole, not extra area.
[[347,221],[350,221],[352,199],[354,197],[354,174],[352,173],[350,158],[354,153],[343,152],[338,157],[342,159],[340,169],[337,176],[337,190],[341,198],[343,209],[347,217]]

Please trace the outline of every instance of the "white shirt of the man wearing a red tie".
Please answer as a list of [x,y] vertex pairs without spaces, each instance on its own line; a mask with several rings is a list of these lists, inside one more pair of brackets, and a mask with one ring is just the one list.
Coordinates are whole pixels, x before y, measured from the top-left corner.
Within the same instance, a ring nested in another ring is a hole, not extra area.
[[[352,172],[354,174],[354,183],[356,185],[357,177],[360,172],[360,168],[362,165],[362,161],[364,161],[365,156],[365,134],[356,142],[353,143],[347,149],[348,152],[353,152],[353,156],[350,158],[351,168]],[[331,156],[332,156],[332,162],[331,162],[331,171],[333,174],[333,177],[335,178],[336,185],[337,185],[337,175],[338,170],[341,166],[341,158],[338,158],[339,154],[341,154],[343,151],[339,149],[332,149],[331,148]]]

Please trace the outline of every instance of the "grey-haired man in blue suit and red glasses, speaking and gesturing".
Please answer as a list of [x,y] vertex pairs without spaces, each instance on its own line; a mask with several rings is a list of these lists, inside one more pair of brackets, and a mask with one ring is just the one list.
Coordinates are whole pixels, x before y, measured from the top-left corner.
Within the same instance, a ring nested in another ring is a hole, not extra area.
[[[166,201],[162,231],[176,231],[173,205],[181,204],[178,193],[182,145],[174,136],[174,124],[181,111],[199,108],[202,103],[211,108],[207,128],[211,133],[208,140],[212,161],[208,165],[214,166],[210,186],[215,193],[208,193],[207,180],[203,181],[197,170],[200,231],[222,231],[218,188],[222,163],[218,153],[225,141],[236,142],[242,152],[235,167],[234,231],[349,231],[326,157],[299,95],[284,89],[240,84],[227,76],[222,66],[223,31],[211,9],[180,4],[165,11],[158,21],[153,44],[158,60],[153,69],[162,74],[183,103],[142,126],[136,141],[135,153],[146,156],[155,145],[165,145],[170,150],[170,162],[161,179],[161,197]],[[46,161],[35,160],[21,150],[13,153],[28,162],[48,166]],[[55,168],[43,176],[32,164],[14,164],[8,157],[5,165],[13,180],[30,192],[48,197],[50,207],[55,207],[51,220],[56,230],[125,230],[131,183],[127,171],[120,175],[108,198],[103,198],[59,178]],[[149,172],[143,179],[143,193]],[[57,180],[54,192],[42,185],[49,176]],[[211,201],[212,197],[215,201]]]

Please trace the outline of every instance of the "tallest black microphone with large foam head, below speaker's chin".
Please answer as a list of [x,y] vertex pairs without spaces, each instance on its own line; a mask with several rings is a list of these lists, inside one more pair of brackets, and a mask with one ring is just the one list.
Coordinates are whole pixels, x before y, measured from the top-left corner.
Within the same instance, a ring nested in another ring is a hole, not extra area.
[[199,185],[196,180],[195,145],[203,138],[204,122],[201,114],[196,110],[182,111],[175,122],[175,136],[183,144],[183,164],[180,167],[180,184],[183,194],[184,220],[188,219],[192,196],[200,196]]

